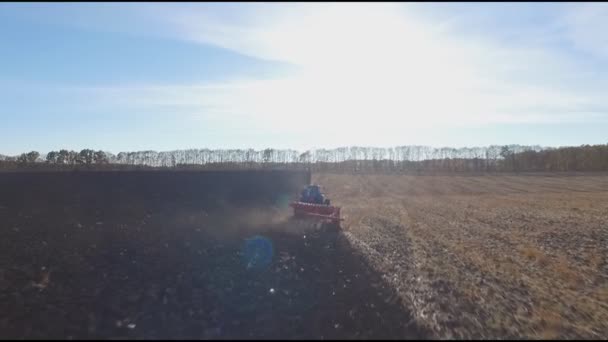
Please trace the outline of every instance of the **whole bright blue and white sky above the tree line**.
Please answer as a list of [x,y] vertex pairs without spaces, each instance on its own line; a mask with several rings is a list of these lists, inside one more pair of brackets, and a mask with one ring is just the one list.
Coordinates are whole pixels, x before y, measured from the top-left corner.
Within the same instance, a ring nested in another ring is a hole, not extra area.
[[606,3],[0,3],[0,154],[608,143]]

